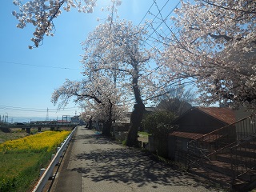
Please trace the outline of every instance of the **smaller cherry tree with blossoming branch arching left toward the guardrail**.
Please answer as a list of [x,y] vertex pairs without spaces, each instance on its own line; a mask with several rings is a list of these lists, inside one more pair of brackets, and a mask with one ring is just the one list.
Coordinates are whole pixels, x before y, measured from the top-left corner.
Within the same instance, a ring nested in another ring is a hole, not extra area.
[[118,119],[121,111],[127,110],[122,102],[122,94],[108,78],[101,76],[83,79],[81,82],[66,79],[52,94],[52,102],[54,105],[58,103],[59,108],[66,106],[72,98],[74,102],[83,102],[90,107],[92,113],[84,115],[90,115],[94,120],[102,122],[102,134],[106,136],[110,136],[112,122]]

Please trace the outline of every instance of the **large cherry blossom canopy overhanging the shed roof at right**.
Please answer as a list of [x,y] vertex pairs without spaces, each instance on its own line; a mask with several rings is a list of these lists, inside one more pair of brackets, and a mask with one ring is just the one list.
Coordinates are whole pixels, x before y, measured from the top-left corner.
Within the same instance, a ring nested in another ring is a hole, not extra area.
[[162,36],[162,73],[168,71],[170,81],[194,82],[206,104],[255,108],[256,2],[182,1],[175,13],[170,36]]

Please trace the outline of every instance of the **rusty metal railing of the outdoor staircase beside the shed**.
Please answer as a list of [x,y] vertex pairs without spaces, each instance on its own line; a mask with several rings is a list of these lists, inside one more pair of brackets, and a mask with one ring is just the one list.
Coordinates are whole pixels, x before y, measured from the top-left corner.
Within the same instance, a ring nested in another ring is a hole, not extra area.
[[218,154],[230,154],[232,177],[238,178],[256,167],[256,149],[250,149],[252,142],[256,142],[256,114],[188,142],[187,164],[191,167],[211,162]]

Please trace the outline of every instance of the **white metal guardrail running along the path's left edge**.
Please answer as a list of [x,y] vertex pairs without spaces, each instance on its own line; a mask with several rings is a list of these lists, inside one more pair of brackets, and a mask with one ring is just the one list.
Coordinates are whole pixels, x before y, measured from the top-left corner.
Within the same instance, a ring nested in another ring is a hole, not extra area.
[[[50,177],[52,177],[53,172],[54,172],[54,167],[56,166],[56,164],[58,164],[63,151],[66,150],[66,147],[67,147],[68,143],[70,142],[71,138],[73,137],[76,129],[77,129],[77,126],[74,128],[74,130],[72,130],[72,132],[66,138],[65,142],[63,142],[62,146],[58,149],[54,158],[51,160],[49,166],[47,166],[47,168],[43,172],[41,178],[38,180],[37,185],[34,186],[34,190],[32,190],[33,192],[41,192],[43,187],[46,185],[46,182],[49,180]],[[42,171],[42,169],[41,169],[41,171]]]

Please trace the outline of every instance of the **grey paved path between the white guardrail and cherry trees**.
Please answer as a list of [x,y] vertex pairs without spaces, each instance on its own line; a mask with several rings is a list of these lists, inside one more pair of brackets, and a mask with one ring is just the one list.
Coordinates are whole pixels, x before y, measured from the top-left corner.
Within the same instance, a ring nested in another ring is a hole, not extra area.
[[202,178],[155,162],[79,126],[51,191],[220,191]]

